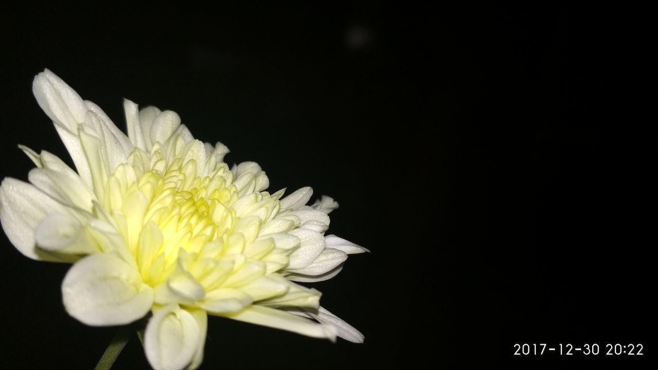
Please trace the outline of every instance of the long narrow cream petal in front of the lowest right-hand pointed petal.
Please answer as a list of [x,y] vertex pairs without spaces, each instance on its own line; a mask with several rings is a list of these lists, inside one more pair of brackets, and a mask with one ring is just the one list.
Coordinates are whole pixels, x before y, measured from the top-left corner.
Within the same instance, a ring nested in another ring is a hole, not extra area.
[[338,332],[333,326],[314,323],[292,313],[260,305],[250,305],[236,313],[222,313],[220,316],[264,327],[288,330],[313,338],[328,338],[332,341],[336,340]]

